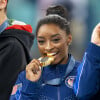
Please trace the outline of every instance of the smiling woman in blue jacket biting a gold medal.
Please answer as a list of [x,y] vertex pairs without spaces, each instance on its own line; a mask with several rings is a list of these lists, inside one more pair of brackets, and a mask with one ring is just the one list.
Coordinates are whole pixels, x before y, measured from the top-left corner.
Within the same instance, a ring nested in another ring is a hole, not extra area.
[[52,57],[51,63],[44,67],[42,60],[33,59],[26,71],[19,74],[12,100],[77,100],[73,83],[79,62],[68,53],[72,35],[69,22],[61,16],[65,12],[61,11],[60,14],[49,13],[38,22],[36,29],[42,60]]

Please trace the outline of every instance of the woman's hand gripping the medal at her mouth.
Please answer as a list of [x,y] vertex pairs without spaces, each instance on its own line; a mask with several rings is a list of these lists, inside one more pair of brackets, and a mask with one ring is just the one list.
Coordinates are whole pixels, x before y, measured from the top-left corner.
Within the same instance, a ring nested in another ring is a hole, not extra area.
[[26,78],[30,81],[36,82],[41,76],[41,67],[40,62],[37,59],[33,59],[26,66]]

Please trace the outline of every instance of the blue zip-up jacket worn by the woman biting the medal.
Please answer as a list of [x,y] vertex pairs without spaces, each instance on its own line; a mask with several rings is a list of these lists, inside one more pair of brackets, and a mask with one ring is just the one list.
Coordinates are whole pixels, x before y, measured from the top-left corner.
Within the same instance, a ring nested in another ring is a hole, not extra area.
[[[75,62],[74,67],[66,74],[69,64],[70,67],[73,65],[70,62],[73,62],[74,58],[71,58],[73,57],[69,57],[67,64],[44,67],[38,82],[27,80],[25,78],[25,71],[21,72],[16,82],[16,84],[22,83],[21,94],[19,99],[16,99],[16,92],[15,95],[11,96],[10,100],[77,100],[72,89],[73,86],[70,87],[70,84],[68,84],[68,79],[71,77],[75,78],[79,63]],[[63,81],[59,82],[59,79]]]

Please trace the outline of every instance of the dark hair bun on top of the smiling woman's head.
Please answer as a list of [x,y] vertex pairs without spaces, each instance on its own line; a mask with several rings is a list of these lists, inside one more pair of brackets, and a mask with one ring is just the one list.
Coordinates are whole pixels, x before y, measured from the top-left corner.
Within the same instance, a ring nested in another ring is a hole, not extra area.
[[47,8],[46,15],[50,15],[50,14],[57,14],[67,20],[68,20],[68,16],[69,16],[68,10],[61,5],[53,5],[53,6],[50,6],[49,8]]

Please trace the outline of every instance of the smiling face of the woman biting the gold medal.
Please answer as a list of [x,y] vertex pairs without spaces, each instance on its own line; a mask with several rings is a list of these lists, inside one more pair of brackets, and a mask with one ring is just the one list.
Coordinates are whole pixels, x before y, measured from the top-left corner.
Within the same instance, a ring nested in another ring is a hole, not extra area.
[[42,56],[53,54],[52,64],[65,64],[68,58],[68,45],[72,36],[55,24],[42,25],[37,33],[38,48]]

